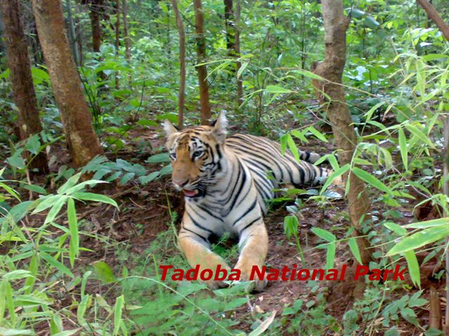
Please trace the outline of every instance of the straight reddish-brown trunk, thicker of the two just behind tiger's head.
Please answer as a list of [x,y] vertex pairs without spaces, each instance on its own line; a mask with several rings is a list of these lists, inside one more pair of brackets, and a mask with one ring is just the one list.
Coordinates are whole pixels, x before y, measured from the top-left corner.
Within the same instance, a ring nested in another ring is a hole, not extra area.
[[[206,36],[204,36],[204,13],[201,0],[194,0],[195,33],[196,33],[196,57],[198,64],[206,62]],[[199,100],[201,104],[201,124],[209,125],[210,102],[208,70],[206,64],[197,65],[199,81]]]

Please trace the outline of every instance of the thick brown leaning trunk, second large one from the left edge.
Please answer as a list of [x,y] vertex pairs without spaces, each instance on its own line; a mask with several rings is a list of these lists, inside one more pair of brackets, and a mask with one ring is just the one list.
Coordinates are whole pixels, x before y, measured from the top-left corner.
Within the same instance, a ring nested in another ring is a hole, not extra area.
[[61,2],[33,0],[32,5],[69,153],[74,165],[81,167],[102,154],[102,148],[70,52]]

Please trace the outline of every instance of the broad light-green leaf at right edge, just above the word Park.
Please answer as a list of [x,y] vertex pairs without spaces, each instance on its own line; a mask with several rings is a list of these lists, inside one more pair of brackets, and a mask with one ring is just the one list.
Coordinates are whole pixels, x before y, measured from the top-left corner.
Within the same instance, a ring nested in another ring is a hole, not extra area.
[[449,225],[440,225],[424,229],[398,241],[396,245],[388,251],[387,256],[415,250],[421,246],[443,239],[447,235],[449,235]]

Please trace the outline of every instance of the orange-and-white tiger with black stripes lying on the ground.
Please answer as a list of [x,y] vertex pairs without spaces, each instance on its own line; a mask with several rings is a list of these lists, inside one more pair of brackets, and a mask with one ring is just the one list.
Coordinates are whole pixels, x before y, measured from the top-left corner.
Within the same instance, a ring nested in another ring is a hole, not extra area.
[[[267,200],[283,186],[295,188],[322,183],[330,170],[313,165],[317,153],[299,151],[300,161],[281,145],[265,137],[234,134],[227,137],[227,118],[222,112],[210,125],[178,130],[163,124],[166,148],[173,167],[171,182],[185,196],[185,212],[177,237],[180,251],[192,267],[231,269],[211,251],[211,241],[227,232],[238,239],[239,258],[234,269],[241,280],[249,279],[253,266],[262,267],[268,252],[263,216]],[[224,281],[206,281],[211,289]],[[255,280],[257,291],[267,281]]]

